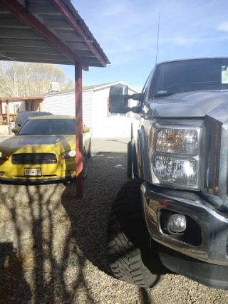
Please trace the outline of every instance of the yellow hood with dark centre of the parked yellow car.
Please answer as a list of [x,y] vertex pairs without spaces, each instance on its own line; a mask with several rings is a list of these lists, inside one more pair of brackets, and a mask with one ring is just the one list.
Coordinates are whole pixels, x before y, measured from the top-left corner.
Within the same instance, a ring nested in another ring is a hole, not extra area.
[[35,147],[37,150],[71,150],[75,146],[75,135],[16,135],[0,143],[3,149],[26,150]]

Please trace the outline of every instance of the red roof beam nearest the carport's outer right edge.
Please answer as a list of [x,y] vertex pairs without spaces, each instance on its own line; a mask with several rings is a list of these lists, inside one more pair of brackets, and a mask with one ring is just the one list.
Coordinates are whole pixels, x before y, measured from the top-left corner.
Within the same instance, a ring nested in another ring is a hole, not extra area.
[[58,11],[61,12],[61,15],[66,18],[66,20],[68,21],[68,23],[71,24],[71,26],[73,27],[73,29],[78,33],[78,36],[80,36],[83,39],[83,41],[86,43],[86,46],[88,46],[88,48],[90,49],[90,51],[95,55],[96,58],[98,58],[98,60],[100,61],[100,63],[103,66],[106,66],[105,60],[100,55],[100,53],[98,52],[97,48],[95,48],[95,46],[93,44],[93,41],[90,41],[90,38],[86,35],[86,33],[81,28],[81,26],[75,20],[73,14],[68,9],[68,7],[65,4],[63,4],[63,1],[61,1],[61,0],[51,0],[51,2],[54,4],[54,6],[56,6],[56,8],[58,9]]

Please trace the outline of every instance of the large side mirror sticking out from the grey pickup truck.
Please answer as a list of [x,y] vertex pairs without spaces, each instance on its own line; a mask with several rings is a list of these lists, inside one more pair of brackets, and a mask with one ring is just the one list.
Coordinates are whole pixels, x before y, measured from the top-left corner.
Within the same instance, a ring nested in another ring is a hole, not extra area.
[[109,112],[127,113],[128,108],[128,85],[112,85],[109,90]]

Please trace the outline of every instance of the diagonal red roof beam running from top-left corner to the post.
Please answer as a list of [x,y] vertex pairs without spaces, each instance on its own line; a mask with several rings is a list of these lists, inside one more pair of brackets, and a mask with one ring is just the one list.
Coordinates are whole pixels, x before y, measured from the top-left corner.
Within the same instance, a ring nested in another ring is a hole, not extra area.
[[38,35],[44,38],[48,43],[61,51],[61,53],[65,54],[71,61],[81,63],[85,70],[88,70],[88,65],[84,63],[80,57],[76,56],[73,51],[71,51],[66,44],[64,44],[58,37],[56,37],[46,26],[38,21],[36,17],[33,16],[29,11],[26,11],[24,6],[19,4],[18,1],[15,0],[0,0],[0,4],[3,4],[6,9],[8,9],[11,14],[14,14],[19,20],[26,23],[29,27],[33,28],[33,30],[38,33]]

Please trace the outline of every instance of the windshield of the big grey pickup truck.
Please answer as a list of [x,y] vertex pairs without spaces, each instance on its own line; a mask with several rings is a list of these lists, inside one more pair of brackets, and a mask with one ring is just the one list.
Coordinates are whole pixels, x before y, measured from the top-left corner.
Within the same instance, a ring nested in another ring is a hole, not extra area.
[[196,90],[228,90],[228,58],[161,63],[155,97]]

